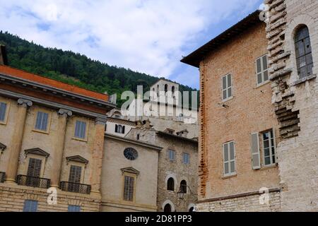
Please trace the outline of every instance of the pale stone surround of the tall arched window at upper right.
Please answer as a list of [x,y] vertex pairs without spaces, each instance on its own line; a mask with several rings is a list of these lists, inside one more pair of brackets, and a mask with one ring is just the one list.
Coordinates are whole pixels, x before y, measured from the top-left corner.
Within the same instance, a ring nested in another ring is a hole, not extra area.
[[[312,44],[312,61],[314,62],[314,67],[312,69],[312,76],[307,78],[300,79],[298,76],[297,70],[297,61],[296,61],[296,52],[295,52],[295,32],[300,28],[300,26],[306,25],[310,31],[310,39]],[[314,45],[314,40],[318,40],[318,30],[316,28],[317,23],[314,19],[307,15],[302,14],[295,17],[287,26],[285,32],[285,52],[290,52],[290,60],[286,64],[287,69],[296,69],[293,70],[290,76],[290,85],[295,86],[306,81],[310,81],[317,76],[318,71],[318,51],[314,51],[314,48],[317,48],[317,45]]]

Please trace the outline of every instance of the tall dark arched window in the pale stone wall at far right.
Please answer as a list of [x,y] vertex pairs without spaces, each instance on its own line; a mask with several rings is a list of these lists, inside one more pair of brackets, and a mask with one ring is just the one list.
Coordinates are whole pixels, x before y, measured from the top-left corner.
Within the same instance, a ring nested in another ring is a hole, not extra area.
[[312,75],[314,63],[312,61],[312,46],[310,44],[310,32],[307,26],[302,25],[295,33],[295,52],[298,76],[305,78]]

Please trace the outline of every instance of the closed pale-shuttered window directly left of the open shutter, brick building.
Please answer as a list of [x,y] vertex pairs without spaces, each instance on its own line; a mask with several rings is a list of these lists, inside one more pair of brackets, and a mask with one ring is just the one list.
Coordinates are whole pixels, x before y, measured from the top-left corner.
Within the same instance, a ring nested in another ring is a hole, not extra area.
[[234,141],[223,144],[223,163],[225,176],[232,176],[236,174]]

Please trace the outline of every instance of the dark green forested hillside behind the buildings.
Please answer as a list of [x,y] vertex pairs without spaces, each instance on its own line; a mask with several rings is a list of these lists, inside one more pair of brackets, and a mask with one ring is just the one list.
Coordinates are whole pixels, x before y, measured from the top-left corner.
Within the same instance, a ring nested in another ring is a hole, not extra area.
[[[0,44],[6,45],[9,66],[98,93],[117,93],[119,107],[123,102],[120,100],[123,91],[131,90],[136,93],[137,85],[143,85],[143,91],[146,92],[159,79],[130,69],[110,66],[83,54],[45,48],[8,32],[0,31]],[[181,92],[193,90],[189,86],[179,86]]]

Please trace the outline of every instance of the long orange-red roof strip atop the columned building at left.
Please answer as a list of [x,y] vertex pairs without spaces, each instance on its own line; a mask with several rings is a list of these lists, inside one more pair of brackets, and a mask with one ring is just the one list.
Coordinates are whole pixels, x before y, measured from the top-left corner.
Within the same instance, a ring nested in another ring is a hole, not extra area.
[[4,73],[6,76],[12,76],[16,78],[22,78],[27,81],[32,81],[35,83],[40,83],[42,85],[51,86],[52,88],[58,88],[60,90],[65,90],[71,93],[75,93],[77,95],[83,95],[86,97],[92,97],[98,100],[102,101],[108,101],[108,95],[102,94],[102,93],[96,93],[91,90],[86,90],[84,88],[80,88],[76,85],[69,85],[67,83],[62,83],[59,81],[56,81],[51,78],[46,78],[43,76],[38,76],[33,73],[28,73],[26,71],[22,71],[19,69],[13,69],[10,66],[4,66],[0,65],[0,73]]

